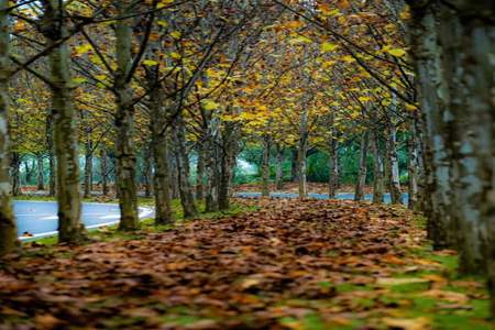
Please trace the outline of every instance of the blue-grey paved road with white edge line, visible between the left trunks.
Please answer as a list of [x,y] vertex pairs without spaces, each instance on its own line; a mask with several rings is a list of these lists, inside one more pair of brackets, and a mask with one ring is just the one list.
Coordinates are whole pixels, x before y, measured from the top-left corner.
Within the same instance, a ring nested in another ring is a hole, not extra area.
[[[14,213],[18,220],[18,233],[24,232],[34,238],[43,238],[57,233],[57,204],[55,201],[15,200]],[[153,210],[140,208],[140,218],[151,217]],[[82,222],[86,228],[98,228],[118,223],[120,219],[119,206],[114,204],[82,204]],[[26,238],[21,238],[26,239]]]

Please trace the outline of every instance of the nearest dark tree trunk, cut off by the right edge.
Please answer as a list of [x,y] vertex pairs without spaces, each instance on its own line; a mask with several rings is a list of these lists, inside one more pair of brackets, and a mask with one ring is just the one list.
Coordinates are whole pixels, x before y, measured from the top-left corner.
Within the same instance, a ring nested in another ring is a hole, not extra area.
[[[474,163],[465,160],[462,163],[466,167],[473,167],[469,165],[476,167],[476,179],[471,182],[468,189],[476,191],[480,188],[476,184],[481,183],[481,194],[474,195],[466,207],[479,209],[477,226],[482,235],[475,239],[484,248],[485,262],[481,264],[486,265],[491,312],[492,318],[495,318],[495,107],[493,98],[493,73],[495,72],[493,18],[495,9],[493,1],[487,0],[459,0],[455,2],[461,10],[457,13],[465,15],[461,18],[463,23],[462,48],[465,52],[462,64],[464,67],[463,82],[469,92],[469,102],[462,110],[470,113],[470,124],[475,128],[472,138],[475,153]],[[461,150],[464,151],[464,148]],[[470,221],[472,218],[465,220]]]

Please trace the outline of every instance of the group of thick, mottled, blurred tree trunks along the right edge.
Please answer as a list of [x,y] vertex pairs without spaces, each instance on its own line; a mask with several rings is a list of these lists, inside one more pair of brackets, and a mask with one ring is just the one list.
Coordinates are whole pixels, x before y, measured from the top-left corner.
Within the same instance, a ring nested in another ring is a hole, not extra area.
[[493,1],[410,1],[411,50],[431,167],[426,213],[436,248],[455,246],[460,271],[488,275],[495,316]]

